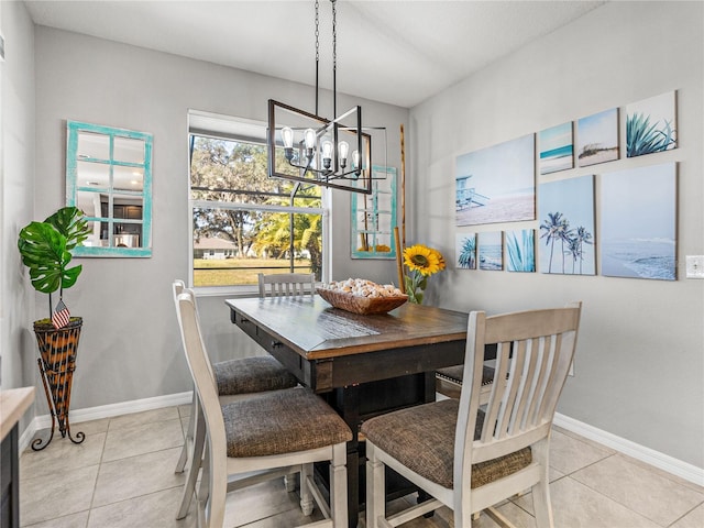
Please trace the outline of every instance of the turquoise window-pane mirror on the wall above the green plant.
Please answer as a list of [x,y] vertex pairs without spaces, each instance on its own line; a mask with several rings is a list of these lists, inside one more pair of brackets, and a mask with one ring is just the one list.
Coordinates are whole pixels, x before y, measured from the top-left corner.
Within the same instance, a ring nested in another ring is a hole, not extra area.
[[67,122],[66,205],[92,233],[75,256],[152,256],[152,134]]

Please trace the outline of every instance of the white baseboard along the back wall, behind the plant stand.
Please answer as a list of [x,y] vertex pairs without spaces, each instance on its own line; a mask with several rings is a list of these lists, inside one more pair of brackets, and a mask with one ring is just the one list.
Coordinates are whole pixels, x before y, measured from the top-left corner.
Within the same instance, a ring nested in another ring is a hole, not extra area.
[[[72,410],[69,415],[70,424],[80,424],[81,421],[99,420],[102,418],[112,418],[113,416],[131,415],[133,413],[142,413],[143,410],[161,409],[164,407],[173,407],[175,405],[189,405],[193,400],[193,392],[168,394],[166,396],[156,396],[153,398],[133,399],[131,402],[121,402],[119,404],[102,405],[99,407],[89,407],[86,409]],[[24,451],[34,433],[41,429],[52,427],[51,415],[36,416],[30,422],[24,432],[20,436],[19,449]],[[58,430],[54,436],[61,438]]]

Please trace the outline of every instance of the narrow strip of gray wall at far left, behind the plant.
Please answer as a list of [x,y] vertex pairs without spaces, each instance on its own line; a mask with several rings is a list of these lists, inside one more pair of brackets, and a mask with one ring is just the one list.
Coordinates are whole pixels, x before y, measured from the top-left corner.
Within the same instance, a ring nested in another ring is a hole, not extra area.
[[[0,64],[0,358],[2,389],[32,385],[36,362],[34,296],[25,286],[16,250],[20,229],[34,209],[34,25],[22,2],[0,2],[6,61]],[[30,349],[31,350],[31,349]],[[20,430],[29,424],[29,413]]]

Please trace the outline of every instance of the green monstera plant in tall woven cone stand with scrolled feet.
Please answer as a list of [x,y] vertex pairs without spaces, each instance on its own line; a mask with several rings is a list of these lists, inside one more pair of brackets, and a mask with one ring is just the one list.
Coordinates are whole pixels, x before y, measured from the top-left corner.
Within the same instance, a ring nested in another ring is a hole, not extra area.
[[[88,238],[90,228],[84,212],[76,207],[64,207],[43,222],[31,222],[21,231],[18,249],[22,263],[30,270],[32,286],[48,295],[50,317],[34,321],[34,333],[40,349],[37,359],[46,402],[52,415],[52,431],[42,446],[42,439],[32,442],[32,449],[46,448],[54,438],[56,420],[62,437],[80,443],[85,435],[74,439],[68,424],[70,388],[76,369],[76,353],[82,327],[82,318],[70,317],[64,305],[64,289],[70,288],[80,275],[81,265],[72,266],[70,251]],[[56,308],[52,294],[58,290]]]

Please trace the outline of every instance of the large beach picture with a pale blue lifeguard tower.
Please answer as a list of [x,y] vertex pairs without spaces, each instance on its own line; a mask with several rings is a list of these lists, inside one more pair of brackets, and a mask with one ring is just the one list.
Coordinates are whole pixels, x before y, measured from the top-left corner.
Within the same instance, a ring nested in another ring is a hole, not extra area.
[[458,226],[536,219],[535,134],[457,158]]

